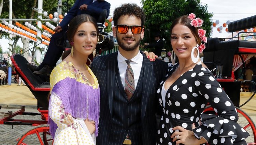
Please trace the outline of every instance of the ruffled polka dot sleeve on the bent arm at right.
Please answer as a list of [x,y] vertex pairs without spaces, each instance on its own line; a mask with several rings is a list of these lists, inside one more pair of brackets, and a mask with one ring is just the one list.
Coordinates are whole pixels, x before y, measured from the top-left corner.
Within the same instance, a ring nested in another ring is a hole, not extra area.
[[193,129],[195,136],[204,137],[211,145],[246,144],[249,134],[237,123],[237,110],[212,73],[199,72],[194,83],[216,113],[201,114],[202,125]]

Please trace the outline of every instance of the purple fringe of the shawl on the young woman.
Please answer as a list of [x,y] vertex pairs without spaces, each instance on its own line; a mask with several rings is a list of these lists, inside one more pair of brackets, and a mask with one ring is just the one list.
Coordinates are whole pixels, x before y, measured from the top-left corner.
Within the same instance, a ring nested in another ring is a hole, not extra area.
[[[65,113],[70,113],[73,118],[88,118],[95,121],[95,135],[98,136],[100,89],[77,82],[75,78],[66,77],[56,83],[52,94],[59,96],[65,107]],[[49,104],[51,106],[51,102]],[[50,110],[49,110],[50,113]],[[58,126],[49,117],[50,133],[54,138]]]

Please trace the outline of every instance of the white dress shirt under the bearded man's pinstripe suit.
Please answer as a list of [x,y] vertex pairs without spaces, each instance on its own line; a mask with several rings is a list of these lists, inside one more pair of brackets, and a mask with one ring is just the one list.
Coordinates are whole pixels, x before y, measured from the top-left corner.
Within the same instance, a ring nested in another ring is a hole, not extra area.
[[[127,59],[123,57],[118,51],[118,54],[117,54],[118,69],[119,69],[120,78],[124,88],[125,88],[125,73],[128,66],[125,60]],[[130,66],[134,74],[134,90],[135,90],[140,77],[140,72],[141,72],[141,67],[143,62],[143,55],[140,53],[140,50],[138,50],[138,54],[130,60],[132,61],[130,63]]]

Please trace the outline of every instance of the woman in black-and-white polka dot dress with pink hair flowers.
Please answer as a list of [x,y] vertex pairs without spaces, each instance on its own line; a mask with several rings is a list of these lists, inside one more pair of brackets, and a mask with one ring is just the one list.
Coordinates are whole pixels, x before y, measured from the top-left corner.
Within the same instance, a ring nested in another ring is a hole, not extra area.
[[[248,133],[237,124],[233,103],[197,57],[205,48],[201,41],[207,42],[205,31],[199,29],[202,22],[192,13],[172,23],[172,55],[179,63],[170,69],[157,90],[163,111],[157,145],[246,145]],[[202,114],[208,102],[217,115]]]

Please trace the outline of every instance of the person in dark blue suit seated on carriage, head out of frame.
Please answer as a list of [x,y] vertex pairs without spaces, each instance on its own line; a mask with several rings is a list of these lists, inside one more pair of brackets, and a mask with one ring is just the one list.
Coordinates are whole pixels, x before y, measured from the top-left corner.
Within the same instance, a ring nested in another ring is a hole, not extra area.
[[64,51],[63,44],[66,38],[65,35],[68,29],[68,24],[71,19],[77,15],[89,14],[96,20],[99,20],[100,14],[103,10],[107,11],[107,18],[110,13],[110,3],[104,0],[76,0],[59,26],[55,28],[54,31],[57,33],[53,34],[51,37],[43,62],[38,67],[27,63],[29,69],[35,74],[49,75]]

